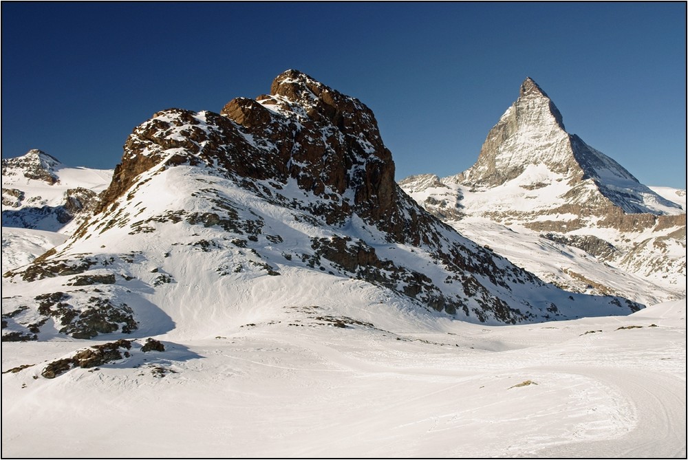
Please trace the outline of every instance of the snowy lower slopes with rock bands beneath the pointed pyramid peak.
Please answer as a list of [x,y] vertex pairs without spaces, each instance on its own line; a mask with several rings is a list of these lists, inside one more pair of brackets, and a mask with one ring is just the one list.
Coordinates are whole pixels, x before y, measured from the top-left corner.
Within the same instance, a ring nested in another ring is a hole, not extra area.
[[[424,176],[413,176],[400,185],[464,236],[490,246],[546,281],[579,292],[615,293],[648,303],[685,297],[685,215],[640,215],[619,229],[610,219],[562,212],[566,199],[557,194],[561,187],[557,181],[527,193],[515,181],[480,191],[456,184],[453,178],[437,178],[429,186],[427,182]],[[559,210],[550,212],[554,204]],[[519,210],[528,213],[518,217]],[[620,220],[624,223],[623,216]],[[567,245],[566,259],[559,257],[562,249],[555,248],[552,239]],[[543,252],[545,247],[552,252]],[[622,271],[614,272],[610,265]],[[574,278],[564,269],[572,270]],[[605,288],[589,290],[594,284]]]

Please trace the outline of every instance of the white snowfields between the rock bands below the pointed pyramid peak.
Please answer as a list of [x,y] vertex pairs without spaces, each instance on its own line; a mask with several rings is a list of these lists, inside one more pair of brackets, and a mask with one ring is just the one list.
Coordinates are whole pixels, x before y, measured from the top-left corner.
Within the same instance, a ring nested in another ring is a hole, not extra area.
[[[529,184],[540,187],[524,188]],[[544,165],[528,165],[519,177],[492,188],[471,188],[458,184],[455,176],[440,179],[433,175],[412,176],[402,180],[400,186],[422,206],[445,215],[444,220],[465,237],[489,245],[498,254],[545,281],[569,283],[570,276],[562,272],[567,268],[614,289],[623,286],[617,291],[623,294],[618,295],[641,303],[652,304],[686,295],[685,236],[682,239],[671,237],[679,230],[676,226],[621,232],[611,227],[597,227],[597,218],[590,217],[587,226],[567,233],[608,241],[621,251],[615,261],[596,261],[590,254],[547,241],[539,237],[542,232],[526,228],[524,223],[527,222],[575,221],[579,217],[549,211],[569,202],[564,195],[570,188],[561,175],[551,173]],[[592,182],[584,186],[589,186],[588,193],[594,193]],[[669,190],[667,194],[680,197],[681,190],[664,189]],[[513,217],[499,217],[503,219],[501,222],[492,219],[499,212]],[[560,256],[561,251],[567,252],[565,259]],[[612,273],[614,271],[616,274]]]

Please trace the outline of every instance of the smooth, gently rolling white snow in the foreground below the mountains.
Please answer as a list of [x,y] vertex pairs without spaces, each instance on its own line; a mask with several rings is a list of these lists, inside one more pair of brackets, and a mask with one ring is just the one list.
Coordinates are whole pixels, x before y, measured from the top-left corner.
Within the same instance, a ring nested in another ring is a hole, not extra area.
[[[3,342],[3,457],[686,455],[685,301],[486,327],[324,279],[286,291],[270,278],[255,286],[266,302],[244,311],[255,325],[229,321],[218,299],[224,320],[158,336],[164,352],[54,380],[45,361],[92,342]],[[286,292],[294,308],[275,304]],[[312,292],[339,307],[298,303]],[[375,327],[309,318],[340,308]]]

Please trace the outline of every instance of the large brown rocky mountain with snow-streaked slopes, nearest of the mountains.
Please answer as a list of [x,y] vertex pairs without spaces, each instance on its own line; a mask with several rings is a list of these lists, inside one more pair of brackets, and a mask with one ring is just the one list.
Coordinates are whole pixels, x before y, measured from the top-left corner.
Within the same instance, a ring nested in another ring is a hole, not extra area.
[[269,295],[256,289],[283,308],[352,280],[375,287],[373,305],[489,324],[641,307],[542,283],[429,215],[394,182],[372,112],[297,71],[222,113],[155,113],[93,217],[3,280],[7,339],[197,330],[189,318],[257,314]]

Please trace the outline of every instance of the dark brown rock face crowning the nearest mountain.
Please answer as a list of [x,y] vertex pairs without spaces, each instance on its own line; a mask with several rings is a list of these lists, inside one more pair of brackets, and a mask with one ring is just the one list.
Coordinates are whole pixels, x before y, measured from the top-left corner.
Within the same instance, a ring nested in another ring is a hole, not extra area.
[[[282,184],[296,179],[327,202],[328,223],[356,212],[389,222],[386,230],[395,241],[420,241],[423,218],[415,215],[408,228],[400,214],[394,162],[370,109],[295,70],[277,76],[270,96],[258,100],[235,98],[220,114],[155,113],[129,136],[96,212],[131,192],[151,168],[212,164],[228,177]],[[179,153],[170,155],[170,149]],[[347,190],[351,197],[342,196]]]

